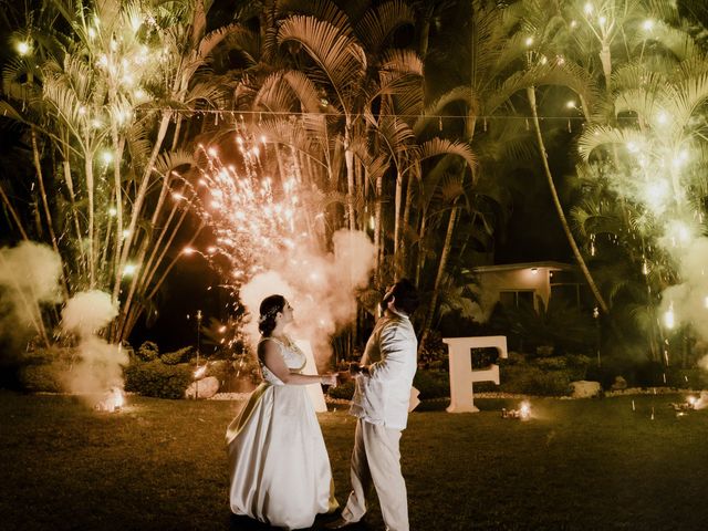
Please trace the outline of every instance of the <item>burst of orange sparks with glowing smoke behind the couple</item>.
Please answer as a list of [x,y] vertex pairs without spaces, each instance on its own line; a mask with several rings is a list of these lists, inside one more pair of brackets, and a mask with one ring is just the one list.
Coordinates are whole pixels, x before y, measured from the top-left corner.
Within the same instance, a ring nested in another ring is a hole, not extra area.
[[[306,176],[292,169],[296,163],[283,163],[284,157],[278,178],[263,175],[266,140],[239,133],[233,140],[238,168],[225,164],[216,148],[200,146],[199,177],[185,180],[185,190],[195,197],[195,210],[211,229],[214,243],[206,251],[190,247],[185,252],[198,253],[219,273],[232,308],[242,304],[253,312],[263,296],[285,295],[295,308],[293,334],[308,339],[322,360],[337,326],[355,316],[353,290],[367,285],[374,247],[363,232],[336,231],[332,251],[323,250],[325,217],[317,206],[323,194],[305,186]],[[345,273],[351,284],[343,282]],[[256,322],[247,327],[246,335],[256,340]]]

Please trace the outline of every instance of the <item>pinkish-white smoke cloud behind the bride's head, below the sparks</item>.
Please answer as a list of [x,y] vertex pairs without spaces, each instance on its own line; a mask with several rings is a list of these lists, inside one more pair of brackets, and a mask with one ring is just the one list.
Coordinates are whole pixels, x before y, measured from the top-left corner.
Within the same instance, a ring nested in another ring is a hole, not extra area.
[[333,252],[293,249],[273,260],[269,271],[256,275],[240,291],[252,316],[247,333],[258,341],[259,306],[272,294],[281,294],[294,308],[293,339],[310,341],[317,363],[331,355],[330,339],[356,316],[355,291],[368,284],[375,248],[366,233],[339,230]]

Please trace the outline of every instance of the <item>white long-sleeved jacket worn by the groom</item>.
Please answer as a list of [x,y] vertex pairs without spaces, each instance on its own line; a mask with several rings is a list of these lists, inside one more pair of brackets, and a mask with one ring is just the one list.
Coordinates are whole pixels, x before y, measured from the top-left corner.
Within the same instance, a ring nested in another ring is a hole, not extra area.
[[369,365],[371,374],[356,377],[350,413],[369,424],[405,429],[417,355],[418,340],[410,320],[387,311],[366,343],[361,363]]

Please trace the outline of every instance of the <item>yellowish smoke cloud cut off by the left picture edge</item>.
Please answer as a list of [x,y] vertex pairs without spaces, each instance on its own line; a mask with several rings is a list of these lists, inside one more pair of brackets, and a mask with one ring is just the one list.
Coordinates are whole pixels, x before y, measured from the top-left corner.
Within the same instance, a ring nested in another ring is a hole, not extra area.
[[62,261],[49,246],[23,241],[0,249],[0,335],[14,343],[38,334],[42,304],[61,302]]

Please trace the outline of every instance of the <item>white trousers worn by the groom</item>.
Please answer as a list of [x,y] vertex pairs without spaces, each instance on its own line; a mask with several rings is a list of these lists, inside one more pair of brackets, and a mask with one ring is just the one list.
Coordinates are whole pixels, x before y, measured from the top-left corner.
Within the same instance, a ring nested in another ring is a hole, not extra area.
[[342,518],[358,522],[366,512],[366,493],[376,488],[387,531],[408,531],[406,482],[400,473],[400,430],[360,419],[352,451],[352,493]]

